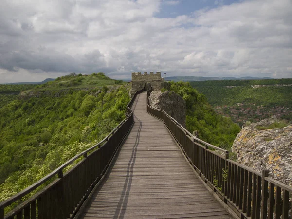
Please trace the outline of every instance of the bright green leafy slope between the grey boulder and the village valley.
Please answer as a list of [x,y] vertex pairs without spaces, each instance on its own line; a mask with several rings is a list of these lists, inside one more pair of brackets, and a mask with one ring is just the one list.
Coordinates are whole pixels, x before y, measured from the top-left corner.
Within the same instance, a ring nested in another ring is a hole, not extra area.
[[[163,91],[166,89],[164,88]],[[186,128],[210,144],[230,149],[240,128],[230,118],[218,115],[208,104],[204,94],[192,88],[190,83],[171,82],[174,91],[186,101]]]

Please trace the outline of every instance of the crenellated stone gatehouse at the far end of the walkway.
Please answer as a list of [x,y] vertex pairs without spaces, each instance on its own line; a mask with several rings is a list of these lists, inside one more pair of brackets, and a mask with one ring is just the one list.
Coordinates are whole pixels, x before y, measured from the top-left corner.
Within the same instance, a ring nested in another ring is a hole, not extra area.
[[161,77],[161,72],[156,72],[156,74],[154,74],[154,72],[150,72],[150,74],[147,72],[144,72],[144,74],[141,74],[141,72],[132,72],[131,96],[133,97],[136,91],[145,88],[147,82],[151,84],[153,90],[160,90],[163,81],[164,79]]

